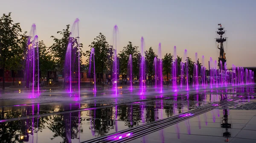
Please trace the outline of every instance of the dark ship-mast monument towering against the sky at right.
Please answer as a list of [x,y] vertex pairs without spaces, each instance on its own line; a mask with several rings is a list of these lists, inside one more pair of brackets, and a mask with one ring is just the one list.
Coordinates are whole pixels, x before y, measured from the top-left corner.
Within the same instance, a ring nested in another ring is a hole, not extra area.
[[227,38],[222,37],[222,35],[225,33],[224,28],[221,27],[218,28],[217,34],[220,35],[220,38],[216,38],[216,42],[220,43],[220,48],[218,46],[218,49],[220,50],[220,56],[218,57],[218,67],[221,69],[221,64],[220,62],[222,62],[222,67],[224,67],[225,62],[227,62],[226,59],[226,53],[224,52],[224,46],[223,46],[223,42],[226,42]]

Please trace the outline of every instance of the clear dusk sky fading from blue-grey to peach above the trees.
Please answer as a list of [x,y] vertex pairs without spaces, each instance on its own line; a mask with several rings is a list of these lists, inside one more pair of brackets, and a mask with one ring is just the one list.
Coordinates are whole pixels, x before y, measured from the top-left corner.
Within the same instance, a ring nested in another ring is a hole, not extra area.
[[183,57],[184,49],[195,60],[205,57],[217,60],[219,50],[215,39],[218,23],[228,37],[225,47],[227,66],[256,66],[256,0],[1,0],[0,14],[12,12],[14,22],[20,22],[23,31],[30,31],[32,23],[37,26],[39,40],[52,45],[50,36],[80,19],[80,42],[82,50],[102,32],[112,45],[113,26],[119,28],[118,52],[128,44],[140,46],[145,39],[146,50],[152,47],[158,54]]

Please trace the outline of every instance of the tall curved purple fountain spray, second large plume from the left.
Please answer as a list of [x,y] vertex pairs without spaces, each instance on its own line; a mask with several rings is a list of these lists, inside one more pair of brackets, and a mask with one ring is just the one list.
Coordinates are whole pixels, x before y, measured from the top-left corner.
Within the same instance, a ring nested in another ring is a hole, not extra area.
[[69,91],[70,96],[78,89],[80,100],[80,43],[79,43],[79,19],[77,18],[70,30],[69,42],[64,63],[64,81],[65,88]]

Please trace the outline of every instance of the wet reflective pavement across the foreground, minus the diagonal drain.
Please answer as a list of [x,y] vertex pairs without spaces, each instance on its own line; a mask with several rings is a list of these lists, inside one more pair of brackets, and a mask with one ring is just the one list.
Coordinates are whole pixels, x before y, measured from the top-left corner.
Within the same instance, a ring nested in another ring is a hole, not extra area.
[[[122,89],[119,96],[103,89],[96,95],[85,91],[80,101],[76,101],[76,95],[65,96],[58,90],[44,91],[37,98],[27,97],[26,92],[2,94],[0,143],[82,143],[229,99],[227,104],[129,143],[256,141],[256,96],[252,86],[179,93],[148,89],[144,95]],[[17,98],[8,97],[12,94]],[[232,101],[241,95],[246,96]],[[222,123],[228,128],[222,128]]]

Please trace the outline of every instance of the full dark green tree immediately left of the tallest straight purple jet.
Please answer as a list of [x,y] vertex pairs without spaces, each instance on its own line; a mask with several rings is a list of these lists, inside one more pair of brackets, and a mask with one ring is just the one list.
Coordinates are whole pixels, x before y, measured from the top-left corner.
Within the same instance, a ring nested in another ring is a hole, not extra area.
[[[112,48],[106,41],[106,37],[99,33],[99,36],[96,36],[94,38],[95,41],[89,45],[89,47],[92,49],[94,48],[94,60],[95,60],[95,70],[96,73],[102,74],[102,82],[104,82],[103,74],[107,72],[109,69],[108,62],[111,60],[110,53],[112,51]],[[86,56],[88,59],[90,59],[90,50],[86,51]],[[88,62],[88,61],[87,61]],[[104,84],[102,84],[104,86]]]

